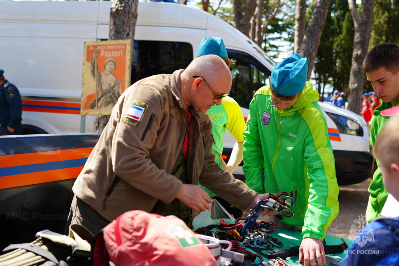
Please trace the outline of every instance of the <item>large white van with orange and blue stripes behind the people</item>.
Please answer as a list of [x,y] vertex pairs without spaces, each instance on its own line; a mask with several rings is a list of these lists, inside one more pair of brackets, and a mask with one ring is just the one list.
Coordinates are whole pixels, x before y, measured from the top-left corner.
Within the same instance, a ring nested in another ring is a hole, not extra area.
[[[84,42],[108,39],[111,4],[0,0],[0,68],[22,95],[24,134],[80,132]],[[139,2],[135,32],[131,83],[185,68],[195,58],[203,38],[221,37],[229,57],[237,61],[231,68],[230,95],[240,104],[244,117],[253,93],[268,82],[275,65],[259,46],[227,22],[182,4]],[[332,131],[337,175],[343,180],[340,183],[370,177],[373,156],[364,120],[344,109],[321,106]],[[345,121],[354,121],[351,125],[357,124],[359,129],[346,133],[348,124],[337,125]],[[93,125],[94,116],[86,116],[84,131],[93,132]],[[227,159],[234,143],[226,132],[223,155]],[[242,168],[234,174],[243,178]]]

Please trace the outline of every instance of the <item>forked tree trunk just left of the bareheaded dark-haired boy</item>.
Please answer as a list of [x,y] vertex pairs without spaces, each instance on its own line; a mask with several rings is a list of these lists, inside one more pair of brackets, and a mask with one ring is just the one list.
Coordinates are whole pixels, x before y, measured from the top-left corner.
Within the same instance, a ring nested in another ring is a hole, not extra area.
[[363,60],[369,49],[374,0],[363,0],[361,16],[359,16],[355,0],[348,0],[349,10],[355,25],[353,40],[352,65],[348,85],[348,109],[360,114],[363,94]]

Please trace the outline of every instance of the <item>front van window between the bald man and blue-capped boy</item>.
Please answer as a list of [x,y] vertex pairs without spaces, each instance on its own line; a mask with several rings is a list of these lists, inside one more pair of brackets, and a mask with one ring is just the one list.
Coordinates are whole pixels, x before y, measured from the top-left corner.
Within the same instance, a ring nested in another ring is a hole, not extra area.
[[255,92],[269,84],[270,70],[260,64],[251,55],[227,49],[228,56],[237,62],[230,67],[233,78],[230,96],[244,108],[249,108]]

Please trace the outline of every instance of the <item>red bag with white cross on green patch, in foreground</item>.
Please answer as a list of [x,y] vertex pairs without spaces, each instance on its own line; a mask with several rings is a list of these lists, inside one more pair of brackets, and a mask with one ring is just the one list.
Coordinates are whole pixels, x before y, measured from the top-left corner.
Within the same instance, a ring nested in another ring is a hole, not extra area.
[[[107,258],[108,257],[108,258]],[[216,266],[208,248],[176,216],[122,214],[96,236],[94,266]]]

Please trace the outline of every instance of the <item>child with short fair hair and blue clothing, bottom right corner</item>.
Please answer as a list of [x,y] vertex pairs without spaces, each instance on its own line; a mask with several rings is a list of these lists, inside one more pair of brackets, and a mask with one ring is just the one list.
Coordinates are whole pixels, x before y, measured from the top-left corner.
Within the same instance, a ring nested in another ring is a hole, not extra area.
[[[387,191],[399,201],[399,114],[380,131],[374,154]],[[340,266],[399,265],[399,217],[379,217],[364,228]],[[359,243],[359,244],[358,244]],[[367,263],[366,263],[367,262]]]

